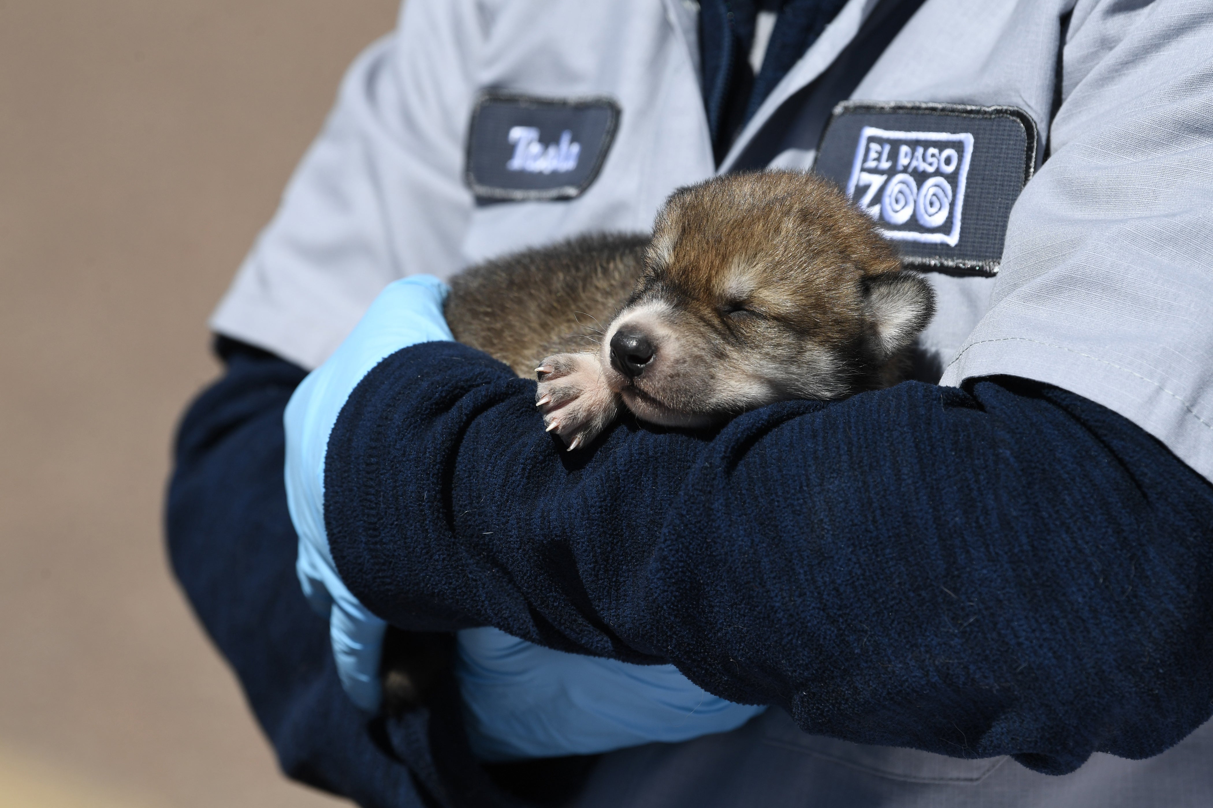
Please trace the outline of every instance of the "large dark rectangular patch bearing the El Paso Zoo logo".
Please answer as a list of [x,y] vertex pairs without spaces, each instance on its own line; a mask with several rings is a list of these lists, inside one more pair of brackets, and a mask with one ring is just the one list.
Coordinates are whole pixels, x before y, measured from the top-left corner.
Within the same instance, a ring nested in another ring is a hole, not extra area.
[[844,102],[814,171],[915,269],[993,275],[1010,207],[1036,168],[1036,125],[1009,107]]

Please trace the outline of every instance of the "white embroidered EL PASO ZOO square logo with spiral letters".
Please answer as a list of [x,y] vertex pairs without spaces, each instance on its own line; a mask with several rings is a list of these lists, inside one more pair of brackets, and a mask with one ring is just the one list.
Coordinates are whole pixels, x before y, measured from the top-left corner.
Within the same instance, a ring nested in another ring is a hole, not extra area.
[[955,247],[972,157],[973,136],[967,132],[865,126],[847,195],[881,223],[889,239]]

